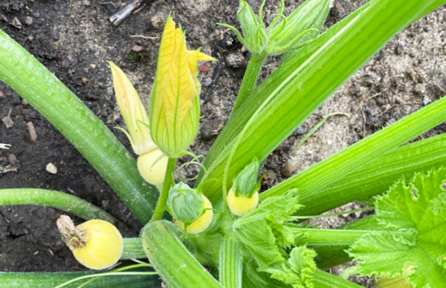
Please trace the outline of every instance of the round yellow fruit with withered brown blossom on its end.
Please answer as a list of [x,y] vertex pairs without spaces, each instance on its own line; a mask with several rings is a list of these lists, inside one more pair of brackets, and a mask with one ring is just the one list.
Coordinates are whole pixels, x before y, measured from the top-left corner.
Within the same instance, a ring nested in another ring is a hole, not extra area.
[[56,224],[75,259],[85,267],[105,269],[121,258],[124,241],[113,224],[93,219],[74,226],[67,215],[61,215]]

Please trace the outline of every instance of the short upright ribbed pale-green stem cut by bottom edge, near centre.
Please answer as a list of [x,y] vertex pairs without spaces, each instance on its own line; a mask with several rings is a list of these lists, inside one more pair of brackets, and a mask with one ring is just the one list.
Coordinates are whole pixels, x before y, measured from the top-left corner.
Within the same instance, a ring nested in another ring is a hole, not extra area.
[[242,287],[242,254],[233,237],[227,237],[220,246],[220,283],[225,288]]

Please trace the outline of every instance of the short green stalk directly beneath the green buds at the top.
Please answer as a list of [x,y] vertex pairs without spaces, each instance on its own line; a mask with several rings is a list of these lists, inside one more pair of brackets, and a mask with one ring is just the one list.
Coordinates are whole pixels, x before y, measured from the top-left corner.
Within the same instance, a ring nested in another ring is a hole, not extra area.
[[263,66],[263,62],[265,62],[266,57],[268,57],[266,53],[253,53],[251,56],[248,67],[246,67],[242,85],[240,85],[239,93],[235,99],[233,112],[239,108],[239,105],[251,94],[255,88],[257,79],[259,79],[261,67]]

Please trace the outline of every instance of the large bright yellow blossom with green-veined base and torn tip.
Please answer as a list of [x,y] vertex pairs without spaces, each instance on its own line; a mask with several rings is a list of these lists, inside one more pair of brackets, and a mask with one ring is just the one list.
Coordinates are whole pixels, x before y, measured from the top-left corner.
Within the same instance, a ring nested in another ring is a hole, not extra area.
[[215,60],[187,50],[185,34],[169,16],[161,38],[150,98],[150,134],[170,158],[184,154],[198,131],[200,83],[198,61]]

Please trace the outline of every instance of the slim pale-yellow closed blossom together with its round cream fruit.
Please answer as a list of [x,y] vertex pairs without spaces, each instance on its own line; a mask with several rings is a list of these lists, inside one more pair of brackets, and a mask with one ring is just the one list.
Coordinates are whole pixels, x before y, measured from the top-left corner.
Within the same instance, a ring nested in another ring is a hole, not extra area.
[[113,62],[109,62],[112,71],[116,101],[121,115],[126,122],[126,133],[133,152],[138,155],[137,165],[141,176],[151,184],[163,183],[167,168],[167,156],[156,147],[150,137],[149,117],[126,74]]

